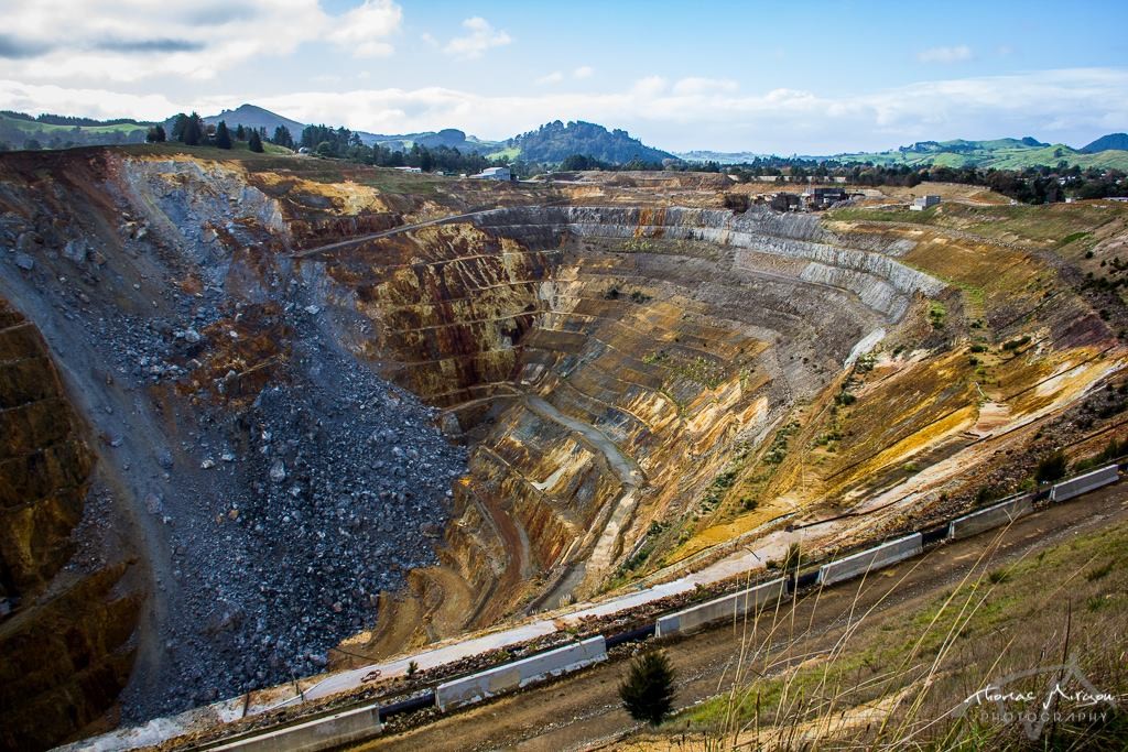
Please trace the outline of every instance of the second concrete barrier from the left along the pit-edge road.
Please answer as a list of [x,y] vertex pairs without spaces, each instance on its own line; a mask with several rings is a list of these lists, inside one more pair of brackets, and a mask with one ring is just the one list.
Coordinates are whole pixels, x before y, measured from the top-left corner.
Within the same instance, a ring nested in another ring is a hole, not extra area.
[[457,708],[606,660],[607,644],[602,636],[591,637],[574,645],[439,684],[434,690],[434,704],[440,710]]

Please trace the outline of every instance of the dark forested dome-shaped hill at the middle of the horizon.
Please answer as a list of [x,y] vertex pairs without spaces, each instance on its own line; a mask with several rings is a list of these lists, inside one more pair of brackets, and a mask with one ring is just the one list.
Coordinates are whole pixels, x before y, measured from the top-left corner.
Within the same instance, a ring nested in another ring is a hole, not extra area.
[[526,161],[561,162],[572,154],[594,157],[602,162],[623,165],[633,159],[644,162],[661,162],[676,159],[668,151],[654,149],[631,138],[626,131],[608,131],[594,123],[575,122],[565,125],[553,121],[536,131],[522,133],[506,142]]

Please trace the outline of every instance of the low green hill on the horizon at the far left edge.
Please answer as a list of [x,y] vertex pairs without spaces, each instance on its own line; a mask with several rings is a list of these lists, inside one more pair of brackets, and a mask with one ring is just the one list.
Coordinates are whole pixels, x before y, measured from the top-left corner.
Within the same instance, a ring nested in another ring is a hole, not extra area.
[[[134,120],[97,121],[63,115],[0,112],[0,147],[7,149],[65,149],[118,143],[142,143],[152,123]],[[36,145],[37,144],[37,145]]]

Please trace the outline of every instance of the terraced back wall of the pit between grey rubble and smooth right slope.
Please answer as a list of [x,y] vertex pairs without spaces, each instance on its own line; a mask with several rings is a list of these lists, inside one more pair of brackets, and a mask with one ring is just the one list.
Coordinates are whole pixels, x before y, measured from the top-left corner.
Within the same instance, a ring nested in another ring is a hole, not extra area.
[[[880,250],[810,216],[576,206],[334,250],[327,297],[371,321],[363,346],[473,443],[443,570],[413,575],[415,608],[439,612],[425,638],[530,595],[594,592],[651,520],[685,513],[734,441],[943,289]],[[385,628],[364,649],[403,639]]]

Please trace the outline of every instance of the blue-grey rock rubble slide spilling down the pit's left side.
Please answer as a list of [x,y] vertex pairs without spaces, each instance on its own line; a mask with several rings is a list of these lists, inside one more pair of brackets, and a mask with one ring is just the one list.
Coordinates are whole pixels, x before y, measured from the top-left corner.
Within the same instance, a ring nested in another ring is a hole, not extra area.
[[[206,186],[169,187],[168,169]],[[102,455],[72,567],[96,570],[129,543],[151,573],[127,724],[323,670],[376,622],[380,591],[437,561],[466,471],[438,414],[336,342],[301,269],[270,258],[258,277],[206,229],[255,247],[284,233],[277,207],[199,170],[132,163],[125,179],[159,212],[134,219],[144,202],[117,194],[120,245],[46,213],[0,215],[2,258],[20,269],[0,291],[81,364],[72,386]],[[235,221],[247,212],[254,222]],[[199,291],[169,283],[190,277]],[[264,302],[283,311],[288,354],[261,392],[213,399],[233,371],[184,389],[217,345],[212,325]]]

